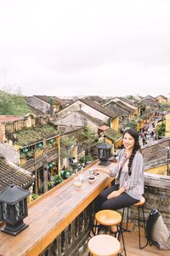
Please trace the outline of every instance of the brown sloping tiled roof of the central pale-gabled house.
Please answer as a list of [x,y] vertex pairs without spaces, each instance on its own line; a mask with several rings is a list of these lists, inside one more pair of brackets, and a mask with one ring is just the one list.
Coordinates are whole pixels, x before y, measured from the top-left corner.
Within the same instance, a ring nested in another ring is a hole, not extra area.
[[115,113],[114,111],[111,111],[110,109],[107,109],[105,107],[101,107],[98,103],[95,103],[95,102],[93,102],[91,100],[80,99],[79,101],[83,102],[84,104],[87,104],[91,108],[96,109],[100,113],[104,113],[106,116],[108,116],[110,118],[116,118],[117,117],[117,113]]

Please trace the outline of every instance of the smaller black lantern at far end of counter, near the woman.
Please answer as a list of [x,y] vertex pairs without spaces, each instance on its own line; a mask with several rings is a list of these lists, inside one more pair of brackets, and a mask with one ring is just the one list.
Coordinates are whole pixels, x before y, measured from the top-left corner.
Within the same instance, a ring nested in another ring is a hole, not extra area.
[[108,161],[111,157],[111,148],[112,145],[109,143],[100,143],[98,146],[98,154],[99,154],[99,160],[100,166],[109,166],[111,163]]

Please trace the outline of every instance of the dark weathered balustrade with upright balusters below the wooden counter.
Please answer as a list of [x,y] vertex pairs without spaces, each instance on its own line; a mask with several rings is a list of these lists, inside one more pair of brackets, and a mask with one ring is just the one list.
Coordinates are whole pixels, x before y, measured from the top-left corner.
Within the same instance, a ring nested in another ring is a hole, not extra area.
[[94,203],[91,203],[40,253],[40,256],[83,255],[86,252],[93,218]]

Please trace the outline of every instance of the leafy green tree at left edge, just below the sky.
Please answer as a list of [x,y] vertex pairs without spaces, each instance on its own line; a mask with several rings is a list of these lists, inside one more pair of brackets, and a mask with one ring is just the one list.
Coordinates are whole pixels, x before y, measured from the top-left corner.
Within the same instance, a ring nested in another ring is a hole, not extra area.
[[0,114],[24,115],[29,112],[23,96],[0,90]]

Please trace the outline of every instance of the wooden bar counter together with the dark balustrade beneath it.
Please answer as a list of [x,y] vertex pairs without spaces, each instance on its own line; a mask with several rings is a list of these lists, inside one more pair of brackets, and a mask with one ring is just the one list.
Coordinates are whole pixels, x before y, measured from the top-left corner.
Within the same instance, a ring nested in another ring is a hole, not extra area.
[[[95,162],[87,166],[82,173],[87,174],[89,168],[97,165]],[[93,184],[85,181],[82,189],[77,190],[70,177],[40,196],[28,207],[26,230],[17,236],[0,233],[0,255],[78,255],[74,252],[83,250],[92,227],[94,199],[112,179],[103,173]]]

